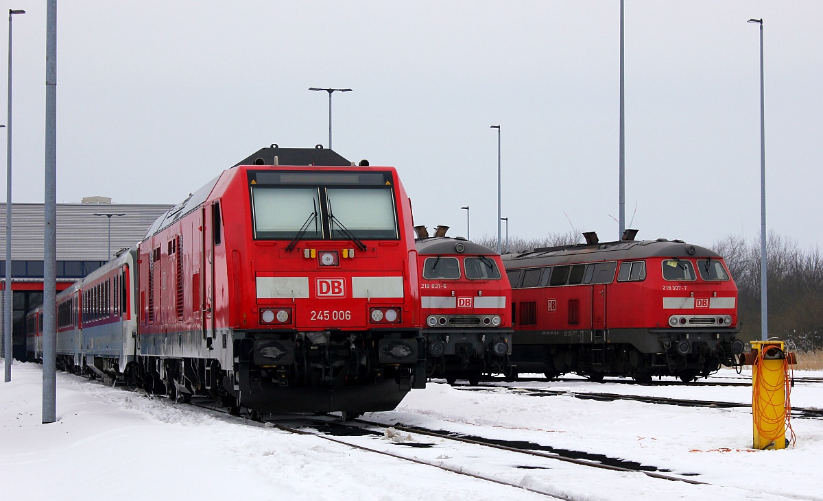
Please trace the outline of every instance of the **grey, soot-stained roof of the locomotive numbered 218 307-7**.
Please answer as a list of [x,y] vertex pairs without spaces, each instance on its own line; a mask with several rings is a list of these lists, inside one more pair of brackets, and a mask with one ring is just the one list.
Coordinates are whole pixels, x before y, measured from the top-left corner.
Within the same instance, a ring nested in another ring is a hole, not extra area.
[[615,261],[643,259],[644,257],[717,257],[709,248],[686,244],[682,240],[639,240],[605,242],[600,244],[574,244],[560,247],[536,248],[521,253],[505,254],[507,267],[542,266],[572,262]]

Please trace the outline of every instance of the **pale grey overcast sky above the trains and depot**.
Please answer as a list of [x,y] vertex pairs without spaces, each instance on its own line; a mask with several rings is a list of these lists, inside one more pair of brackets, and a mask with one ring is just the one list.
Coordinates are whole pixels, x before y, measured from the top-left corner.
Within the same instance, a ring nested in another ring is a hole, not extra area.
[[[45,2],[14,17],[14,202],[44,193]],[[272,142],[396,166],[417,225],[616,239],[620,2],[58,2],[58,202],[176,203]],[[823,2],[625,2],[626,224],[823,234]],[[0,39],[3,39],[0,36]],[[6,65],[0,79],[7,80]],[[5,107],[5,100],[0,107]],[[5,123],[5,118],[0,118]],[[0,179],[5,193],[5,176]],[[3,196],[3,200],[5,197]],[[636,209],[636,212],[635,212]]]

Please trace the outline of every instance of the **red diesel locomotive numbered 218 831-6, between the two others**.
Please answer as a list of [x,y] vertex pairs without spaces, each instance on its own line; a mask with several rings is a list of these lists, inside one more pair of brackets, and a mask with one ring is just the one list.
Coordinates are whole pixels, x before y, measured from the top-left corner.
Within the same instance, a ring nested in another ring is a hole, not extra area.
[[509,375],[511,287],[500,254],[461,238],[445,237],[439,226],[430,238],[416,226],[421,322],[430,376],[453,384],[482,374]]

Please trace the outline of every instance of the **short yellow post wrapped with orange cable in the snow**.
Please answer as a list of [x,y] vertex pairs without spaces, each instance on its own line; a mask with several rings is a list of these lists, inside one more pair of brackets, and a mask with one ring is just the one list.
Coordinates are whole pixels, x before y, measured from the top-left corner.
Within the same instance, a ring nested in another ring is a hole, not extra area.
[[788,360],[783,341],[751,341],[751,415],[756,449],[786,448]]

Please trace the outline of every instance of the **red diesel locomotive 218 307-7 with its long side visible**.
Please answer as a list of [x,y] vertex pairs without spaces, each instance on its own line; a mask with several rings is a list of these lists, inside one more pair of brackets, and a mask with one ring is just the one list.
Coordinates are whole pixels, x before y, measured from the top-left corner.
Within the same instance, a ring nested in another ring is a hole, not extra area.
[[681,240],[587,241],[503,256],[516,371],[690,381],[740,364],[723,257]]

